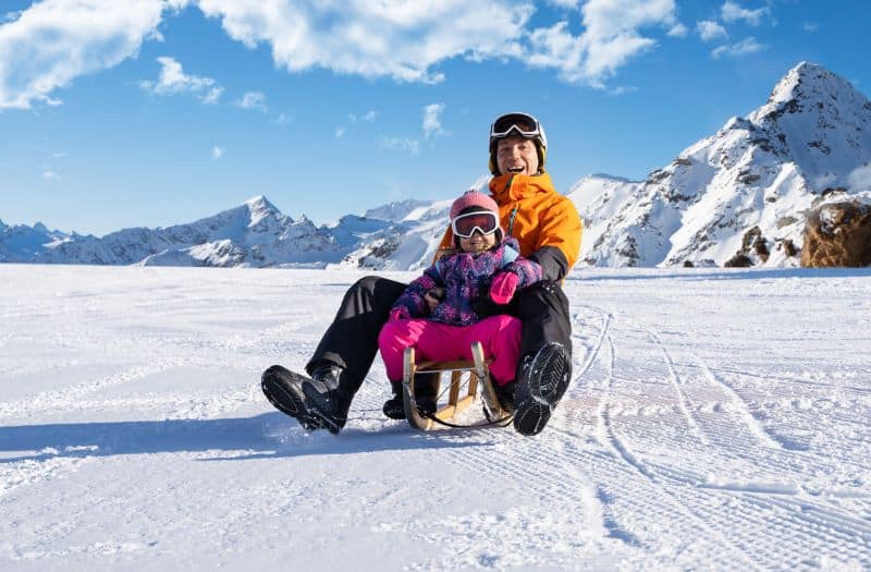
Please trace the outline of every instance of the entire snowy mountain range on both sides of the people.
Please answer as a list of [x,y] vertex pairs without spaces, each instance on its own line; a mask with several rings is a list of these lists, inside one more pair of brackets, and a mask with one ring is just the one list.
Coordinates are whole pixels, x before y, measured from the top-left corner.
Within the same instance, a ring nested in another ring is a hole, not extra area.
[[[809,208],[871,200],[870,127],[868,98],[802,62],[765,105],[646,181],[575,183],[567,196],[585,221],[581,264],[798,266]],[[0,221],[0,261],[414,270],[431,260],[451,200],[391,203],[315,227],[258,196],[188,224],[102,238]]]

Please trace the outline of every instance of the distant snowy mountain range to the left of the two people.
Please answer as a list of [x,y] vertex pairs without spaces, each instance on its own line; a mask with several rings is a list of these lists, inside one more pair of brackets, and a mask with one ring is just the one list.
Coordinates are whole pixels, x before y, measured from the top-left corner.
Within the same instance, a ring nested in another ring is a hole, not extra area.
[[0,221],[0,261],[142,266],[414,268],[444,231],[450,200],[404,202],[334,226],[293,220],[265,196],[196,222],[102,238]]

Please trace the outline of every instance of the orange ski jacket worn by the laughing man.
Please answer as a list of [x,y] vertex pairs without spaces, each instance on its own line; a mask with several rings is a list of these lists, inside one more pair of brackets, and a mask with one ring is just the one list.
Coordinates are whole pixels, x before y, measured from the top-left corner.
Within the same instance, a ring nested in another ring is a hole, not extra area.
[[[544,280],[559,281],[580,254],[582,226],[574,203],[553,188],[548,173],[502,174],[490,180],[502,230],[520,244],[520,254],[541,265]],[[449,228],[441,248],[452,248]]]

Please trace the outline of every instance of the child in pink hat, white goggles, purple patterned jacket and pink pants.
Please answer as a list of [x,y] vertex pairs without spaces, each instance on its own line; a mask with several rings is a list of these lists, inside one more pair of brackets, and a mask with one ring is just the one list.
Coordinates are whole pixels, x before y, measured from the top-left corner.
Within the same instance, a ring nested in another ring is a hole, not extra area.
[[[405,418],[402,376],[406,348],[415,348],[421,360],[471,360],[471,342],[480,341],[484,356],[492,358],[490,375],[498,392],[514,381],[520,320],[506,314],[482,318],[475,307],[489,297],[507,311],[515,292],[541,280],[541,267],[520,257],[517,241],[504,238],[499,226],[496,203],[477,191],[465,193],[451,206],[451,229],[456,250],[408,285],[378,337],[393,388],[393,398],[383,411],[394,419]],[[437,397],[431,389],[419,393],[418,405],[432,413]]]

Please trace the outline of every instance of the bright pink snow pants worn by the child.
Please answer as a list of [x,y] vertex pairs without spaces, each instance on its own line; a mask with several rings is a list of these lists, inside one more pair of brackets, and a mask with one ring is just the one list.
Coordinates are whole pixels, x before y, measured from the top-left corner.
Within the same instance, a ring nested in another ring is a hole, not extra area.
[[388,379],[402,379],[403,353],[414,348],[416,357],[436,362],[471,360],[471,342],[479,341],[491,358],[490,374],[504,386],[514,379],[520,357],[523,322],[513,316],[490,316],[471,326],[449,326],[426,319],[390,320],[378,336]]

